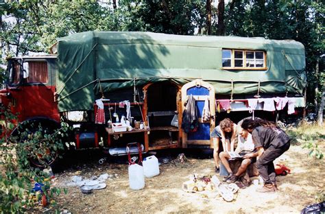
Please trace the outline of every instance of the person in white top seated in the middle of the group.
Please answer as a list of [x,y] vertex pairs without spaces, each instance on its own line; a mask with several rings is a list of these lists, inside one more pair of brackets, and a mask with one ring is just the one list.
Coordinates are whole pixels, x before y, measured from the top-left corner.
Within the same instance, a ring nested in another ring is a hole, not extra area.
[[221,163],[224,165],[226,170],[228,171],[228,176],[226,177],[226,182],[236,182],[243,173],[245,173],[246,169],[251,163],[256,162],[256,153],[254,151],[254,143],[252,141],[252,134],[240,128],[239,136],[238,136],[238,145],[234,154],[241,156],[241,165],[236,172],[236,174],[232,173],[232,169],[229,165],[229,160],[232,160],[232,152],[221,152],[219,154],[219,158]]

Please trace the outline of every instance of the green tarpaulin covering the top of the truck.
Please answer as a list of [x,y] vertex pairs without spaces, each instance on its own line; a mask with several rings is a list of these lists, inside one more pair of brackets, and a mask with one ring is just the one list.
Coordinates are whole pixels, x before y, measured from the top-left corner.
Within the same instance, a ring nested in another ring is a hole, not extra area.
[[[102,91],[201,78],[216,95],[301,94],[304,46],[293,40],[237,36],[178,36],[148,32],[84,32],[58,38],[59,109],[93,109]],[[225,70],[222,49],[266,51],[266,70]],[[135,81],[134,81],[135,80]],[[100,81],[100,84],[99,84]],[[233,85],[233,88],[232,88]]]

